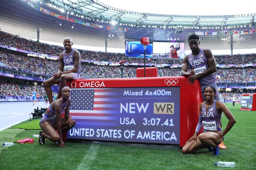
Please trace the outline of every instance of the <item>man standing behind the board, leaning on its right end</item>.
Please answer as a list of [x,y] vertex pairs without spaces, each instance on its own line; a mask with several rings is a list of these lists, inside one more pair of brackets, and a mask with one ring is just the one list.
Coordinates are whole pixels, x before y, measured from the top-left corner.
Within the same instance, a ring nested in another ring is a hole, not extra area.
[[[189,77],[189,83],[193,84],[196,79],[199,80],[203,101],[205,101],[204,89],[207,86],[213,86],[217,89],[214,100],[219,100],[219,92],[216,84],[216,79],[213,73],[216,72],[216,61],[210,49],[199,48],[199,37],[196,34],[191,34],[188,38],[189,48],[191,53],[183,58],[181,65],[181,76]],[[190,68],[189,73],[187,72]],[[219,128],[222,127],[220,122]],[[225,145],[221,143],[220,148],[225,149]]]

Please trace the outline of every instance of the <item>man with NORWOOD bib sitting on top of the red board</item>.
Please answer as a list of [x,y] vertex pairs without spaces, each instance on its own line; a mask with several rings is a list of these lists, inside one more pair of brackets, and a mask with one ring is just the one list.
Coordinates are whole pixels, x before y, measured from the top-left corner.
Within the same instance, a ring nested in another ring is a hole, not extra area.
[[[65,38],[63,45],[65,51],[59,55],[59,71],[54,73],[51,78],[44,81],[44,89],[47,96],[52,96],[51,85],[59,84],[57,99],[61,97],[61,89],[66,86],[66,80],[80,79],[81,77],[80,52],[72,48],[73,42],[71,38]],[[49,97],[49,104],[52,102],[52,97]]]

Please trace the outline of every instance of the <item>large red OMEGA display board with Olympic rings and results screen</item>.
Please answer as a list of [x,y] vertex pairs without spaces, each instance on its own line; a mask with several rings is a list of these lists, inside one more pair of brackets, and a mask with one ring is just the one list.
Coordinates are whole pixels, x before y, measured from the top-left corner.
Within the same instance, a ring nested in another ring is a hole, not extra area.
[[184,146],[199,120],[200,84],[187,77],[78,79],[67,86],[77,122],[67,138]]

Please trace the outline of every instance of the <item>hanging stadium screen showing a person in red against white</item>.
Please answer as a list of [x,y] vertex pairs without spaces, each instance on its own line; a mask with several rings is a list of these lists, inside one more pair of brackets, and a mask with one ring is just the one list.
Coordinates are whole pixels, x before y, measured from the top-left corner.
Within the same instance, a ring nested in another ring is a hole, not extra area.
[[[185,43],[184,42],[153,42],[153,56],[154,58],[184,58],[185,57]],[[173,46],[172,48],[170,48]]]

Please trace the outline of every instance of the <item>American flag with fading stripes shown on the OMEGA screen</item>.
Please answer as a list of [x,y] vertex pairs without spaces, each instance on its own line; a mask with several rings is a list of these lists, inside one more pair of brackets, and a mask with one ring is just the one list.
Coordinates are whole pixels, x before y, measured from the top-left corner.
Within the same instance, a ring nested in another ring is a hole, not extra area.
[[69,114],[77,125],[116,126],[118,96],[114,89],[71,89]]

